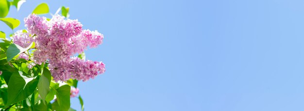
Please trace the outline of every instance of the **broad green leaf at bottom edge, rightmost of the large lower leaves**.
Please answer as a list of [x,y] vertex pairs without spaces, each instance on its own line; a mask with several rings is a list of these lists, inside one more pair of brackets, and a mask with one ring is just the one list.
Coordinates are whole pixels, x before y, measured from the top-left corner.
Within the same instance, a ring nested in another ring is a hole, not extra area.
[[58,109],[56,111],[68,111],[70,107],[70,91],[71,87],[69,85],[63,85],[56,89],[56,97],[58,102]]

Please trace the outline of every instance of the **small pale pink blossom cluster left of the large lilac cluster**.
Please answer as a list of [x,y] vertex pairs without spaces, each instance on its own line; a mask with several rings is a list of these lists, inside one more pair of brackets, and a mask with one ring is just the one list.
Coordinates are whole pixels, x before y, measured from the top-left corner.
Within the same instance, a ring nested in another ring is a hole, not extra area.
[[34,41],[33,37],[31,37],[29,33],[24,33],[22,30],[15,32],[12,36],[12,40],[15,44],[21,46],[22,48],[30,46]]

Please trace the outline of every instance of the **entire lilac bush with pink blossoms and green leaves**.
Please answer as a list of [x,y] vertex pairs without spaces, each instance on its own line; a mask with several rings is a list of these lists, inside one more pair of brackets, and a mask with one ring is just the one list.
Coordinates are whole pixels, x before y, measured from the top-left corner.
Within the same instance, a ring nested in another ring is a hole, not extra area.
[[[9,37],[0,32],[0,109],[73,111],[70,98],[78,97],[84,110],[78,80],[94,79],[105,72],[104,63],[84,59],[84,50],[101,45],[103,35],[83,29],[77,19],[68,19],[69,8],[61,7],[61,15],[47,18],[38,15],[49,13],[48,5],[37,7],[24,18],[26,29]],[[12,30],[20,24],[9,17],[0,21]]]

